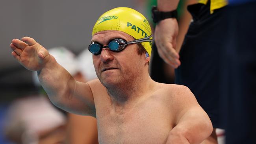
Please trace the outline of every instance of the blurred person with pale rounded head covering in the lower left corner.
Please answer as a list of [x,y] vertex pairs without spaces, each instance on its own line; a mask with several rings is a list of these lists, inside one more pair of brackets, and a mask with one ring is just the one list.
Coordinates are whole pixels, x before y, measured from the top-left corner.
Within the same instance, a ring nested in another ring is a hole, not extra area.
[[65,139],[65,116],[45,96],[27,96],[9,107],[6,137],[16,144],[59,144]]

